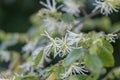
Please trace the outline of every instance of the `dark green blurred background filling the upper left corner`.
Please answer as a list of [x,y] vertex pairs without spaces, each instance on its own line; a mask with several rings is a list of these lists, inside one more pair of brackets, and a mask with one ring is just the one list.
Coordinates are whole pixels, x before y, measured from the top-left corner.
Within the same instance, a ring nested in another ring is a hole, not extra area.
[[39,9],[39,0],[0,0],[0,29],[26,32],[31,26],[30,16]]

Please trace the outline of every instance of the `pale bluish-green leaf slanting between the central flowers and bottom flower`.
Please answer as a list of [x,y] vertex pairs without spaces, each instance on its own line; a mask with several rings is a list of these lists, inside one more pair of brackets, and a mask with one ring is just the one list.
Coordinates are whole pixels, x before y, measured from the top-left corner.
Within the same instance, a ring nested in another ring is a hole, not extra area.
[[76,60],[80,59],[84,55],[83,49],[75,49],[65,59],[65,65],[69,66],[71,63],[75,62]]

